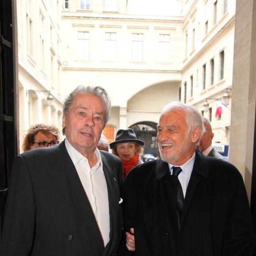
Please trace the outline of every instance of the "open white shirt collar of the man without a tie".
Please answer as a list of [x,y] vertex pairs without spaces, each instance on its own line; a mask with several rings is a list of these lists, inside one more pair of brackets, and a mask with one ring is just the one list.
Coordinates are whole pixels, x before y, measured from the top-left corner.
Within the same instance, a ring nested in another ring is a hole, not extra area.
[[[81,153],[79,153],[68,141],[68,139],[65,139],[65,146],[67,148],[68,154],[74,164],[76,166],[82,159],[87,159],[85,156],[83,156]],[[96,147],[94,150],[94,153],[97,157],[97,162],[95,164],[95,169],[97,169],[99,166],[102,166],[102,158],[101,158],[101,153]],[[88,161],[88,159],[87,159]]]

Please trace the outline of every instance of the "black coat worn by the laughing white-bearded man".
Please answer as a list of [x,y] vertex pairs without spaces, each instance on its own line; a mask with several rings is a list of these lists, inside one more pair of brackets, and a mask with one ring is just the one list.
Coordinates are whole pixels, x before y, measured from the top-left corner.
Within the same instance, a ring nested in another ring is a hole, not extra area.
[[119,255],[251,256],[252,216],[243,179],[228,162],[196,152],[184,208],[177,220],[177,181],[161,159],[136,166],[124,180],[125,230],[136,251]]

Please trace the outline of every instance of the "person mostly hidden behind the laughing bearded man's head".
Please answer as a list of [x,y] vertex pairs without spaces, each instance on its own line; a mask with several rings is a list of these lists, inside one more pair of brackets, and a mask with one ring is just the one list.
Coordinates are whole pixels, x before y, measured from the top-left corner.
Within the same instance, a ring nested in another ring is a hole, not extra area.
[[196,146],[196,149],[200,150],[204,155],[219,158],[228,162],[228,158],[219,154],[218,151],[212,147],[211,141],[213,139],[214,133],[212,132],[210,121],[205,117],[203,117],[203,126],[205,128],[205,132],[200,139],[200,143]]

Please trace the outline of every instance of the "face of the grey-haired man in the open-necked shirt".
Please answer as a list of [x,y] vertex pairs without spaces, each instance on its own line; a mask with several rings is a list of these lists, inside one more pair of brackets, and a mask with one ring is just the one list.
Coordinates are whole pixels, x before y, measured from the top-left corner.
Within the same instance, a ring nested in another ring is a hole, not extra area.
[[105,122],[105,105],[92,94],[75,96],[67,116],[63,115],[62,128],[69,143],[81,154],[94,151]]

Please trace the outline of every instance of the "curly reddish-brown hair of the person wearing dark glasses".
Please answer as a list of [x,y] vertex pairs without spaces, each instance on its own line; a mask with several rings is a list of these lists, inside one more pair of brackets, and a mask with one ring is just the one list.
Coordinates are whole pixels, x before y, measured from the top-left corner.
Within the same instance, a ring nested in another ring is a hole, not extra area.
[[46,125],[46,124],[36,124],[32,125],[23,140],[22,149],[23,152],[30,150],[32,143],[34,142],[34,136],[38,133],[42,132],[44,134],[52,134],[57,141],[60,140],[60,130],[56,128],[54,125]]

